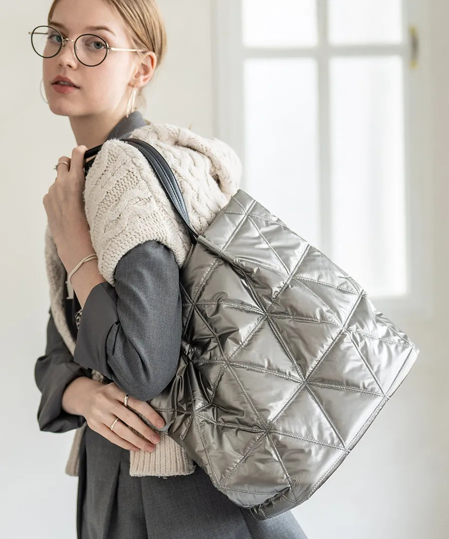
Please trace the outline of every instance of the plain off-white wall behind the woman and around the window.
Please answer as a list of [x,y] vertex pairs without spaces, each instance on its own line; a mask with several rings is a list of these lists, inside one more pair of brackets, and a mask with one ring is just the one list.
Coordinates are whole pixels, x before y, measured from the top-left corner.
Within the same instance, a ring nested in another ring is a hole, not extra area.
[[[431,32],[432,163],[423,177],[432,199],[426,232],[433,239],[436,309],[424,323],[398,320],[421,349],[395,397],[357,449],[300,507],[296,518],[309,539],[443,539],[449,524],[449,367],[445,344],[449,300],[449,4],[427,0]],[[144,116],[215,135],[211,35],[212,0],[159,0],[169,49],[148,92]],[[6,12],[6,5],[8,12]],[[66,118],[54,116],[39,94],[42,60],[27,34],[45,24],[50,1],[19,0],[0,7],[3,32],[0,92],[2,255],[2,414],[0,536],[73,539],[77,479],[64,467],[73,432],[40,432],[40,393],[33,378],[43,354],[49,295],[44,266],[42,197],[54,163],[76,143]],[[12,44],[16,44],[12,46]],[[396,321],[396,320],[395,320]]]

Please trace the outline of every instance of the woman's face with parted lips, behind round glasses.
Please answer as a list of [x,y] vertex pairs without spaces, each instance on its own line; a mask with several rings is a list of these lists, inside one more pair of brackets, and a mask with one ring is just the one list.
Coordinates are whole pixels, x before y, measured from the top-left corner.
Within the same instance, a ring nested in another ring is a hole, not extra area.
[[[59,30],[63,38],[76,39],[80,34],[93,33],[112,47],[139,48],[130,42],[121,17],[102,0],[60,0],[50,25]],[[87,29],[94,25],[107,26],[114,33]],[[135,85],[137,79],[133,77],[141,63],[137,53],[109,51],[101,64],[89,67],[78,61],[73,46],[73,42],[65,42],[56,56],[43,59],[44,88],[51,111],[64,116],[96,115],[112,110],[125,114],[132,91],[130,84]],[[57,92],[52,85],[57,75],[70,78],[79,88],[67,93]]]

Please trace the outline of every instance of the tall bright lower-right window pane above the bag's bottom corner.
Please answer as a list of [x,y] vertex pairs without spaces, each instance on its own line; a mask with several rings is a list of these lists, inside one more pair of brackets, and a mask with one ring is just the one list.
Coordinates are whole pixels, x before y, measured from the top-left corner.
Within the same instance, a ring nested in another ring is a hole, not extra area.
[[406,290],[400,57],[330,62],[333,259],[368,294]]

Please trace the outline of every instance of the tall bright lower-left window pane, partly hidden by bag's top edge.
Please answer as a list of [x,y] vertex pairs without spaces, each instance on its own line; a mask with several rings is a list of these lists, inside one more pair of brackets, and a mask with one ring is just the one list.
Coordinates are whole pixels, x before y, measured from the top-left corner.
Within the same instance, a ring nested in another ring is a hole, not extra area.
[[242,189],[310,243],[319,243],[317,66],[313,59],[244,64]]

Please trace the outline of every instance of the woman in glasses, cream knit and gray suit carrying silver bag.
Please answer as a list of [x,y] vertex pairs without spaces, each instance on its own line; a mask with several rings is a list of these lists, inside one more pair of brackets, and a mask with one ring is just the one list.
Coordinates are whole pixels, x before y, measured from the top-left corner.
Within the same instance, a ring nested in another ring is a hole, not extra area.
[[[47,24],[33,32],[33,48],[44,57],[49,107],[69,117],[78,146],[71,158],[59,158],[43,201],[51,308],[35,379],[40,429],[81,433],[73,450],[78,539],[304,538],[290,512],[254,519],[151,428],[163,418],[148,401],[169,384],[178,363],[179,267],[190,245],[143,157],[120,139],[151,141],[172,159],[199,232],[236,190],[238,158],[218,139],[152,124],[133,110],[136,91],[165,51],[155,2],[55,0]],[[86,149],[99,144],[95,160],[85,162]],[[130,199],[123,178],[142,196]],[[140,233],[141,223],[146,236],[128,234]]]

